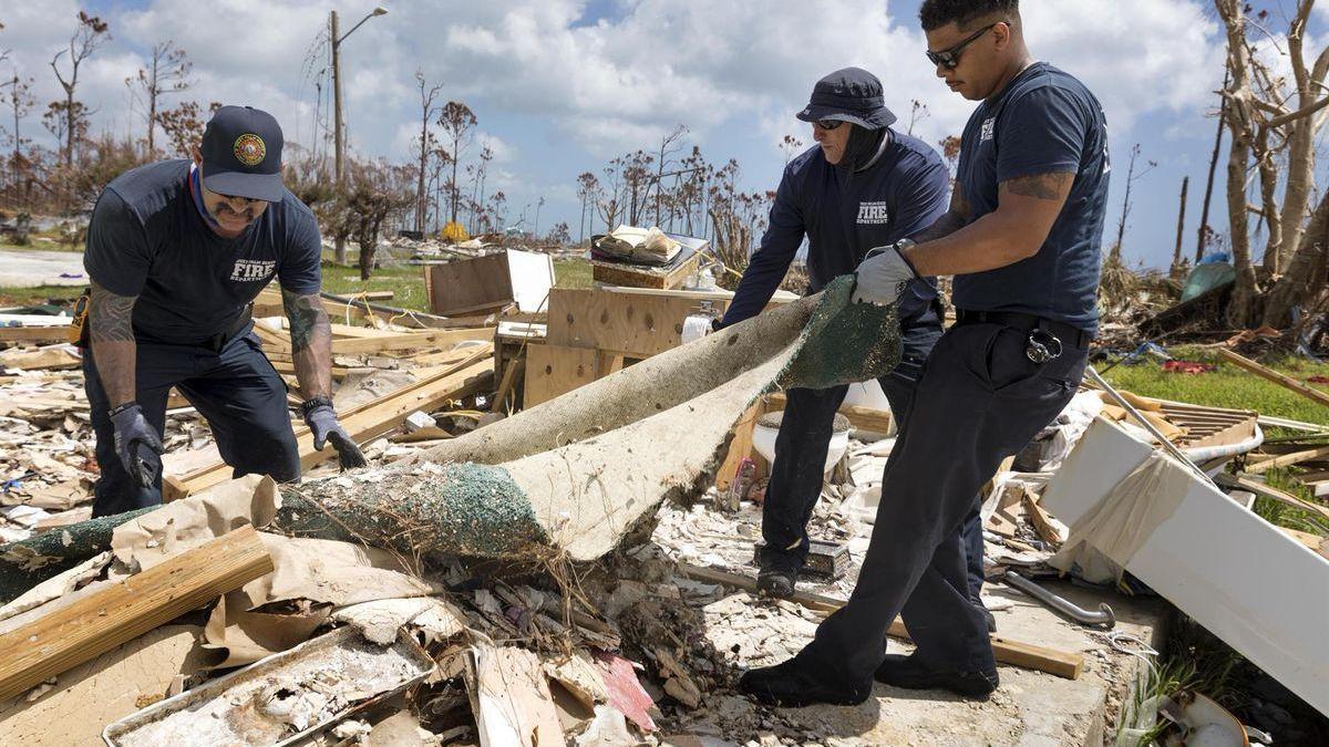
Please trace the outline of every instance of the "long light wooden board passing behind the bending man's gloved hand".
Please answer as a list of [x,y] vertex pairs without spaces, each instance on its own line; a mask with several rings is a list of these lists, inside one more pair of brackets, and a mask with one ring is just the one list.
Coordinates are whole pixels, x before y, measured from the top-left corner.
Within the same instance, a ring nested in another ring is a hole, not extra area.
[[[435,409],[449,399],[460,399],[481,391],[493,379],[490,348],[476,346],[476,352],[448,366],[432,376],[403,387],[391,395],[342,412],[338,419],[356,443],[364,443],[396,428],[408,415],[420,409]],[[314,436],[308,428],[295,428],[295,441],[300,451],[300,468],[336,459],[336,449],[314,449]],[[231,468],[217,461],[185,475],[169,484],[167,500],[182,498],[205,488],[230,480]]]

